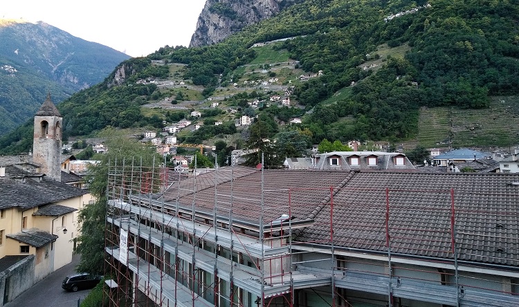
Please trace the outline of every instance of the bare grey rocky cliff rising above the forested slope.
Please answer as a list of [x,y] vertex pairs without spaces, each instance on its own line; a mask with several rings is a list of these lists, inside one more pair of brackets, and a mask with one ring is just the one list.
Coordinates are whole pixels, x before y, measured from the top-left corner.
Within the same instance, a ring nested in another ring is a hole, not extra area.
[[191,37],[190,47],[222,41],[245,26],[272,17],[304,0],[207,0]]

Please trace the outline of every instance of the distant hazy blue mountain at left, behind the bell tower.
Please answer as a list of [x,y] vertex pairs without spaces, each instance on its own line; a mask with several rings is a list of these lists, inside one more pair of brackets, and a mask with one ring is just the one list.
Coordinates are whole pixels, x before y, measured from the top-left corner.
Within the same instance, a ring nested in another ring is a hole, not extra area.
[[129,58],[42,21],[0,19],[0,41],[0,135],[32,118],[47,93],[61,102]]

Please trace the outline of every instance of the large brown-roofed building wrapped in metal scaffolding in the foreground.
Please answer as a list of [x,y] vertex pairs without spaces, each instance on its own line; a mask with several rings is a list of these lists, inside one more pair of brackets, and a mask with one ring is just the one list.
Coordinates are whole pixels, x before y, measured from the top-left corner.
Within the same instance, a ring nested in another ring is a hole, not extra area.
[[519,174],[223,167],[145,195],[123,176],[109,306],[519,306]]

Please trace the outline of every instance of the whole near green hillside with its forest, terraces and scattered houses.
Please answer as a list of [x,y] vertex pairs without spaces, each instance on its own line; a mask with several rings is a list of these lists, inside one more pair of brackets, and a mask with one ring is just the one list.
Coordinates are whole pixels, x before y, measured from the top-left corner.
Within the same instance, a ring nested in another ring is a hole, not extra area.
[[[196,110],[192,120],[203,125],[179,142],[234,144],[248,135],[237,133],[235,117],[260,115],[262,139],[514,145],[517,20],[519,5],[507,1],[303,1],[218,44],[165,46],[122,62],[58,106],[64,136],[108,125],[158,131]],[[286,124],[294,118],[301,123]],[[1,138],[0,149],[26,150],[22,135]]]

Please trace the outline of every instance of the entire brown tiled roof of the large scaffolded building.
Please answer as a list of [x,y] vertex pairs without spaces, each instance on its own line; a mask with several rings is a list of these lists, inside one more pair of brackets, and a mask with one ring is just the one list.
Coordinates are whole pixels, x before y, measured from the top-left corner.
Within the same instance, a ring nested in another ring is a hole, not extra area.
[[336,248],[384,254],[388,213],[390,252],[441,259],[454,257],[454,217],[460,261],[519,266],[519,174],[231,169],[172,185],[163,200],[254,225],[290,214],[314,221],[295,232],[301,243],[329,245],[333,229]]

